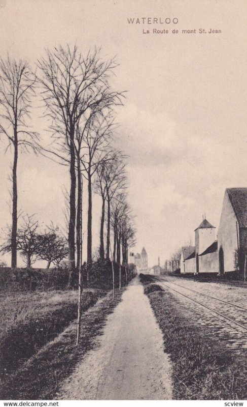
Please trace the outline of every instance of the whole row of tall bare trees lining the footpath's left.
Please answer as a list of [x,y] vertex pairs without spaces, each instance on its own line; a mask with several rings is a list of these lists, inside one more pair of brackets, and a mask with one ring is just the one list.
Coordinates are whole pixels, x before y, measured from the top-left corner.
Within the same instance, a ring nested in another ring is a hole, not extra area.
[[[69,45],[47,50],[32,71],[27,62],[8,56],[0,60],[0,135],[13,148],[11,267],[17,266],[18,205],[17,168],[19,152],[32,149],[69,170],[68,267],[69,285],[82,265],[82,220],[84,180],[87,184],[87,267],[92,263],[92,194],[102,198],[99,237],[100,258],[126,263],[128,247],[134,244],[131,211],[126,201],[126,156],[113,148],[116,131],[115,107],[124,93],[112,89],[110,79],[117,63],[103,61],[100,49],[83,55]],[[33,96],[41,96],[49,142],[30,131]],[[7,148],[8,148],[7,147]],[[107,207],[107,208],[106,208]],[[106,220],[107,239],[104,242]]]

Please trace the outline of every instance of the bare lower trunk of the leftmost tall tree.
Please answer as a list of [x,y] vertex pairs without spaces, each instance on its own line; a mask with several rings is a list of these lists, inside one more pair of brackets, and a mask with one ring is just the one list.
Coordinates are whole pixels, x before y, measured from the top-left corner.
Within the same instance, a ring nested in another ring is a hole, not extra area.
[[11,232],[11,268],[16,269],[17,266],[17,160],[18,160],[18,138],[17,126],[14,130],[14,162],[12,172],[13,182],[13,201],[12,201],[12,232]]

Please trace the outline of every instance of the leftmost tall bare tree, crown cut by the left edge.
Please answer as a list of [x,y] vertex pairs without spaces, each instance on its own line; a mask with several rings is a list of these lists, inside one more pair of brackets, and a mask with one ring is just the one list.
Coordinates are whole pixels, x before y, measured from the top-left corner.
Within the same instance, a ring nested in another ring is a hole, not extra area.
[[0,59],[0,135],[4,134],[13,148],[12,166],[12,227],[11,227],[11,267],[17,266],[17,164],[18,153],[37,149],[34,140],[37,132],[29,130],[30,107],[36,75],[27,62]]

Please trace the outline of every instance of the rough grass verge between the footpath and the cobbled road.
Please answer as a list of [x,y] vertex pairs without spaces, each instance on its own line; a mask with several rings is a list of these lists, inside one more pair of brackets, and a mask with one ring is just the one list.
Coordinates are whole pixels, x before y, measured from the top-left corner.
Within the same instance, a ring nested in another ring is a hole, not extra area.
[[[164,351],[172,362],[172,398],[177,400],[245,399],[246,352],[230,354],[206,326],[193,322],[192,312],[164,290],[147,294],[163,332]],[[149,285],[145,291],[148,293]]]

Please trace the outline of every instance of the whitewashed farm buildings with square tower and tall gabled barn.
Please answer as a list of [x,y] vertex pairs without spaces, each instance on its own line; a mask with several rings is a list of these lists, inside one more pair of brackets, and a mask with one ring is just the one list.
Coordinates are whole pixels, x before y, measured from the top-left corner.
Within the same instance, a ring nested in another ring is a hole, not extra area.
[[195,229],[195,247],[182,247],[181,273],[243,271],[247,256],[247,188],[227,188],[218,240],[206,219]]

